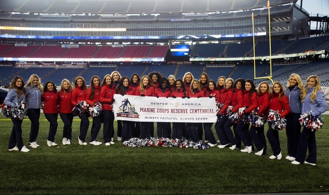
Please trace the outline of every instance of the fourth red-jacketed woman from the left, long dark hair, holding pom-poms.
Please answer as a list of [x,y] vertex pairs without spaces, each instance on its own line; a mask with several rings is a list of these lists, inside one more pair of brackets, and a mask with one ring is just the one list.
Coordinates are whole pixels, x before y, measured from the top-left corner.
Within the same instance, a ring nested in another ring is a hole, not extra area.
[[[90,107],[94,106],[94,103],[100,101],[99,93],[101,90],[100,79],[98,76],[92,76],[90,80],[90,88],[87,91],[86,102]],[[92,125],[91,125],[91,137],[89,144],[94,146],[101,145],[102,142],[97,141],[98,132],[102,126],[101,123],[102,116],[93,116],[92,117]]]

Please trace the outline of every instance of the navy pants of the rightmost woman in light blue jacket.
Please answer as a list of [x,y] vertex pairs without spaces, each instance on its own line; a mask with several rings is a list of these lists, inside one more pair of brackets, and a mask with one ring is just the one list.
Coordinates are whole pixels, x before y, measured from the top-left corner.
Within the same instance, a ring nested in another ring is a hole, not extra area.
[[[307,148],[309,150],[309,155],[305,160]],[[296,161],[300,163],[307,161],[308,163],[316,164],[315,131],[311,131],[311,129],[306,127],[303,128],[299,137]]]

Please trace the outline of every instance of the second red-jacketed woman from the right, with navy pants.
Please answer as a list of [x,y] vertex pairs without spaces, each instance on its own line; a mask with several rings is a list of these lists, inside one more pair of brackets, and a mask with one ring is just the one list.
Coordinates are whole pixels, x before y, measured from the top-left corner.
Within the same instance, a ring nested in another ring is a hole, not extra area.
[[[264,116],[267,117],[268,105],[270,100],[270,95],[269,95],[270,88],[266,81],[263,81],[261,84],[259,84],[257,93],[258,93],[258,108],[259,108],[257,115],[261,116],[262,114],[264,114]],[[259,156],[265,155],[266,139],[264,134],[264,126],[262,127],[251,126],[249,129],[249,134],[256,148],[258,149],[258,152],[256,152],[255,154]]]

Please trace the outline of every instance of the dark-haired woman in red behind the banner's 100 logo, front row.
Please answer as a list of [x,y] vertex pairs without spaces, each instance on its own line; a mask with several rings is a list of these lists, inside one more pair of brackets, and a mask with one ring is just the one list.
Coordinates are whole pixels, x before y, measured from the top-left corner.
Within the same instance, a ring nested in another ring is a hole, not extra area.
[[[130,86],[128,77],[124,76],[120,79],[118,89],[116,90],[117,94],[124,95],[134,95],[134,88]],[[127,99],[127,103],[131,106],[130,102]],[[125,112],[125,110],[122,110]],[[122,143],[128,141],[132,137],[133,122],[122,120]]]

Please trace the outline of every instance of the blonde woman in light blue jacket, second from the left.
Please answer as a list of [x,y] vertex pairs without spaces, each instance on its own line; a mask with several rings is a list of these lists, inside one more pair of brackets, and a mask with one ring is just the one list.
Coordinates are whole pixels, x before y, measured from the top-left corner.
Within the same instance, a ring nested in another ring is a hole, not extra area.
[[29,146],[37,148],[37,137],[39,133],[40,106],[43,87],[40,78],[36,74],[32,74],[25,85],[26,89],[26,105],[27,116],[31,121]]

